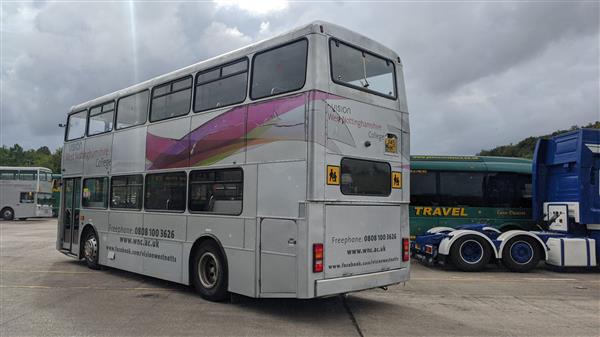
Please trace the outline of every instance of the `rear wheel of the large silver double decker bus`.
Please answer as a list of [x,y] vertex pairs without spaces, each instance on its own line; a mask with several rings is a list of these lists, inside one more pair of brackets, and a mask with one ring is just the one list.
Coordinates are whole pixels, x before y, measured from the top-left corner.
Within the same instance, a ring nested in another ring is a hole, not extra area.
[[191,279],[194,289],[209,301],[227,299],[227,263],[214,241],[205,241],[196,249],[192,259]]

